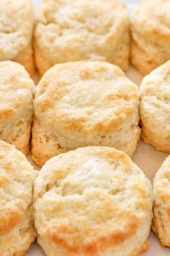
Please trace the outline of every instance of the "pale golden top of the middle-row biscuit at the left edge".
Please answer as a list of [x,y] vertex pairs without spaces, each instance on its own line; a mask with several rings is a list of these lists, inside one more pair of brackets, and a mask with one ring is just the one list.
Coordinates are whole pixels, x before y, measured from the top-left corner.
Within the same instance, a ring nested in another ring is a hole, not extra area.
[[0,121],[19,116],[24,108],[32,107],[35,85],[22,65],[0,61]]

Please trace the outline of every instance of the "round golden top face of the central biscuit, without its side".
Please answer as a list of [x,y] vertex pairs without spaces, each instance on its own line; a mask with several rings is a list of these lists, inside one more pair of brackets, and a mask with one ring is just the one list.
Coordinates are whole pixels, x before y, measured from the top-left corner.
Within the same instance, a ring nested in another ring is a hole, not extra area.
[[37,86],[35,116],[52,129],[110,132],[138,108],[138,87],[106,62],[52,67]]

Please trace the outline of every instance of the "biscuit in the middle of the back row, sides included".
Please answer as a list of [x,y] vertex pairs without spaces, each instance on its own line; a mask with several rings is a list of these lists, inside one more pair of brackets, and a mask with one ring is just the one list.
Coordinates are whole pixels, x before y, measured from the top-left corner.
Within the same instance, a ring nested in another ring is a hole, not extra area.
[[40,74],[68,61],[107,61],[128,69],[129,18],[117,0],[42,0],[35,26]]

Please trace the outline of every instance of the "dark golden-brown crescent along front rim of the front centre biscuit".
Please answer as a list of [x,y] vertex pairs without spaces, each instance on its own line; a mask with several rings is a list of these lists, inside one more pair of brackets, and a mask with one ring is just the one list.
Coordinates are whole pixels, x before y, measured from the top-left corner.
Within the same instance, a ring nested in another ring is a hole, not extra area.
[[73,233],[74,229],[71,226],[48,226],[43,233],[45,236],[49,236],[56,246],[62,247],[68,253],[99,256],[101,249],[105,251],[108,248],[117,246],[117,244],[122,244],[126,239],[135,234],[138,226],[140,226],[140,219],[133,215],[128,216],[128,218],[128,224],[122,229],[112,231],[107,236],[96,237],[93,242],[86,244],[81,243],[79,235],[74,236],[72,242],[65,237],[66,233]]

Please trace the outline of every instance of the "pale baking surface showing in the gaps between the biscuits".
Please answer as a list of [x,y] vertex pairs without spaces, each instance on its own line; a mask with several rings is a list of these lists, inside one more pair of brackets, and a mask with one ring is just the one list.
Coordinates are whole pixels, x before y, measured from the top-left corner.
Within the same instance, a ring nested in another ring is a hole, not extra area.
[[[132,9],[135,4],[138,4],[139,0],[126,0],[128,4],[128,8]],[[35,7],[38,7],[40,0],[34,0]],[[135,71],[132,67],[127,72],[128,77],[133,80],[133,82],[140,85],[142,80],[142,76]],[[161,163],[166,158],[166,153],[161,153],[158,150],[154,149],[151,145],[145,144],[143,141],[140,140],[138,142],[137,150],[133,155],[133,161],[136,163],[141,170],[144,171],[148,179],[153,180],[153,177],[161,166]],[[143,253],[143,256],[168,256],[170,255],[170,249],[161,247],[156,236],[151,232],[149,236],[149,247],[146,253]],[[44,256],[45,254],[42,252],[42,249],[35,243],[30,247],[30,250],[27,252],[25,256]]]

